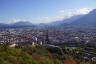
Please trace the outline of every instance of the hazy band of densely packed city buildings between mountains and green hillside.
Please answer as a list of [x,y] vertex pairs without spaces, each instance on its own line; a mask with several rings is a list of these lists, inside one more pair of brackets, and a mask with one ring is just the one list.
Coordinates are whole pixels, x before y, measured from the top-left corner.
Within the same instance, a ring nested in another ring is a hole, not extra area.
[[28,27],[0,29],[0,43],[96,44],[96,29]]

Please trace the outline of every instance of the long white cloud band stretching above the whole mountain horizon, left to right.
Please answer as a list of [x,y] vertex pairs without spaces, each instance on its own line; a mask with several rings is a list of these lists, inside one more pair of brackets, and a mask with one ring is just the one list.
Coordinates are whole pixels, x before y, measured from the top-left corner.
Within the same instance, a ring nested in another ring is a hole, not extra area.
[[48,23],[48,22],[52,22],[52,21],[63,20],[63,19],[69,18],[73,15],[87,14],[90,11],[91,11],[91,9],[88,9],[88,8],[59,10],[57,12],[58,14],[54,17],[41,17],[41,18],[37,18],[37,19],[15,18],[15,19],[11,19],[11,20],[5,20],[5,21],[3,21],[3,23],[15,23],[15,22],[19,22],[19,21],[23,21],[23,22],[30,21],[34,24]]

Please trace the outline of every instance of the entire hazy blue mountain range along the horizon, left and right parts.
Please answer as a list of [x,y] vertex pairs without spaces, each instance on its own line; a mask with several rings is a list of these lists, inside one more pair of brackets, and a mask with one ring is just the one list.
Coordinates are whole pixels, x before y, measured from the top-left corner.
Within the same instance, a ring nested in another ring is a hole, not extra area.
[[[69,26],[69,27],[96,27],[96,9],[92,10],[85,15],[75,15],[70,18],[55,21],[51,23],[41,23],[40,26]],[[36,26],[29,21],[19,21],[13,24],[3,24],[0,23],[0,27],[26,27],[26,26]]]

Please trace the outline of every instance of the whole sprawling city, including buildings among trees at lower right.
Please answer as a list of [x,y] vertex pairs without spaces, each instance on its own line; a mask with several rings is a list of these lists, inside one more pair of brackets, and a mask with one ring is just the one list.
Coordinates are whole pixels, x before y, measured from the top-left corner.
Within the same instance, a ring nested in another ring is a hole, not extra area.
[[[96,59],[96,30],[56,27],[24,27],[0,29],[0,44],[11,48],[46,46],[49,52],[72,55],[80,61]],[[56,51],[55,51],[56,50]],[[64,60],[64,59],[63,59]]]

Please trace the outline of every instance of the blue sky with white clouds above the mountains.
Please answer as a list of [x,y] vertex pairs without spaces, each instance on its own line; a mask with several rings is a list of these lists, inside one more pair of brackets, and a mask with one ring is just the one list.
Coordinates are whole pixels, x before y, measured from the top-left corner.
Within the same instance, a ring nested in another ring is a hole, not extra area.
[[95,8],[96,0],[0,0],[0,23],[48,23]]

